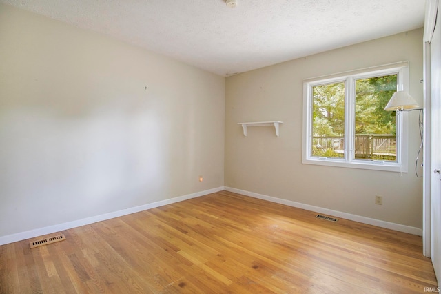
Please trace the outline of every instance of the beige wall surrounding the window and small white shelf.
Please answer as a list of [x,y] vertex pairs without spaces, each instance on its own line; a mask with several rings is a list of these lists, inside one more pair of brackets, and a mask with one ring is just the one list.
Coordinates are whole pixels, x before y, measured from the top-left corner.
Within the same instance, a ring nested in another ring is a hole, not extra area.
[[[225,186],[422,228],[417,112],[409,114],[409,173],[302,164],[302,80],[405,60],[409,92],[422,105],[422,29],[228,77]],[[243,121],[283,121],[280,137],[271,127],[249,128],[244,137]]]

